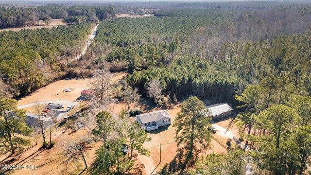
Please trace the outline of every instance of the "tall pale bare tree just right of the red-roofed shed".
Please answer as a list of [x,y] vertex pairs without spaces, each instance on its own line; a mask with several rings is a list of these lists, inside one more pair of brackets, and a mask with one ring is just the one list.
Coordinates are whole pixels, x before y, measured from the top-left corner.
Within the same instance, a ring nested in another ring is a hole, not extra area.
[[95,87],[96,95],[100,96],[100,102],[104,101],[104,93],[111,87],[112,73],[108,69],[96,70],[93,72],[91,84]]

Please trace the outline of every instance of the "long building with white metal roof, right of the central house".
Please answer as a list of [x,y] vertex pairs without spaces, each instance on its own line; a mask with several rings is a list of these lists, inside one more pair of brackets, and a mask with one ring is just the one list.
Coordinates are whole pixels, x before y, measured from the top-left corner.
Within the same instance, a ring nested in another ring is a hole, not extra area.
[[212,120],[222,119],[225,116],[231,115],[233,109],[228,104],[215,104],[206,106],[206,108],[211,112],[207,117],[212,117]]

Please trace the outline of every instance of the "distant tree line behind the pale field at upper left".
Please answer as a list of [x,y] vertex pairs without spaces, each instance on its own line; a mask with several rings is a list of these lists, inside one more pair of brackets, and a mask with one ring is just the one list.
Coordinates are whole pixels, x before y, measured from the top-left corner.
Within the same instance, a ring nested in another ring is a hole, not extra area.
[[0,28],[25,27],[39,24],[43,20],[49,24],[51,19],[83,16],[87,21],[98,22],[114,16],[111,6],[61,6],[42,5],[38,7],[0,8]]

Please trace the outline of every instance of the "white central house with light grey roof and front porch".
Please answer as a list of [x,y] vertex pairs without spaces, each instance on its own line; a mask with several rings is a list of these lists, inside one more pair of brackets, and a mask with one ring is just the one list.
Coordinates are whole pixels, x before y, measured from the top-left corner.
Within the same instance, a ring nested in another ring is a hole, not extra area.
[[160,126],[170,125],[172,117],[167,110],[158,110],[136,116],[136,122],[147,131],[155,130]]

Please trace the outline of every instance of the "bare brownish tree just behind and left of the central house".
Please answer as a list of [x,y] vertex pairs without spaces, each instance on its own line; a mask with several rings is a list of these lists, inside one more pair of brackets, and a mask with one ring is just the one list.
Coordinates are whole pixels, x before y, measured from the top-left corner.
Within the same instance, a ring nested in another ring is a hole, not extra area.
[[127,110],[130,110],[131,104],[138,102],[140,95],[138,94],[137,88],[132,88],[124,81],[123,91],[121,93],[121,98],[127,105]]

